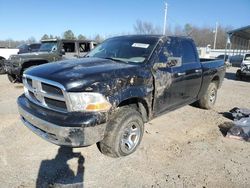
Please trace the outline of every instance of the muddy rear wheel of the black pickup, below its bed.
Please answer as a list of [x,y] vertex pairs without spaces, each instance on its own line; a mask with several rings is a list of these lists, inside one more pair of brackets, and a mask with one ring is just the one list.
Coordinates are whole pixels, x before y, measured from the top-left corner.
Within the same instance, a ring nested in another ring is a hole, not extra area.
[[208,110],[213,108],[217,99],[217,90],[218,87],[216,83],[211,82],[207,88],[206,93],[199,100],[199,106]]

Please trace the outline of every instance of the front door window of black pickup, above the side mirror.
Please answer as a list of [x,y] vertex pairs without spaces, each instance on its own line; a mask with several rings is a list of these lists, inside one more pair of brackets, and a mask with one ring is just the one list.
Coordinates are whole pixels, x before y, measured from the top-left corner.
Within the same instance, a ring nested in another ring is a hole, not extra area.
[[181,57],[180,41],[175,38],[169,39],[165,42],[158,56],[160,63],[167,63],[168,57]]

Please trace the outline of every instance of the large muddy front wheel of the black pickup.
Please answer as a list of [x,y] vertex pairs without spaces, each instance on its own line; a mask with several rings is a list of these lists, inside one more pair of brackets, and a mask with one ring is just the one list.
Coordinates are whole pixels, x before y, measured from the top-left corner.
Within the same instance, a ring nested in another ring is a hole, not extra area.
[[121,107],[107,124],[104,139],[98,143],[99,149],[110,157],[130,155],[140,145],[143,132],[141,114],[133,108]]

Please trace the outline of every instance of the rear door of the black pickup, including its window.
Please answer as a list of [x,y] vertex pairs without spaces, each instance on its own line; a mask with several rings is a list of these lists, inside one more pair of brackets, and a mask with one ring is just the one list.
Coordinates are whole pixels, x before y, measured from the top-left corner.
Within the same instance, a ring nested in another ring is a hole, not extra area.
[[202,82],[202,67],[191,39],[182,39],[182,66],[185,80],[184,99],[188,103],[196,99]]

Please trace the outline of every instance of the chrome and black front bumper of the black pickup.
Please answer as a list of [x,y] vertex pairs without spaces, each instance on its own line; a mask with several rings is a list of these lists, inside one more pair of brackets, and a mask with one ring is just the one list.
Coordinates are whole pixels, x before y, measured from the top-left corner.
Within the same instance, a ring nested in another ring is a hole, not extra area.
[[[63,116],[63,114],[61,114],[62,116],[60,116],[58,114],[59,112],[51,111],[50,113],[54,113],[51,114],[52,116],[54,115],[54,120],[61,122],[56,124],[49,121],[51,115],[49,115],[47,109],[32,104],[24,95],[18,98],[17,103],[24,125],[51,143],[81,147],[95,144],[104,138],[106,123],[93,124],[93,119],[98,116],[89,116],[92,119],[78,117],[78,120],[75,120],[73,123],[70,117],[72,115],[64,114]],[[39,108],[39,110],[37,108]],[[55,115],[55,113],[57,115]],[[41,117],[41,114],[43,117]],[[81,113],[81,115],[84,114]],[[100,119],[101,117],[99,117],[99,122],[101,121]],[[89,124],[90,122],[92,122],[92,124]]]

